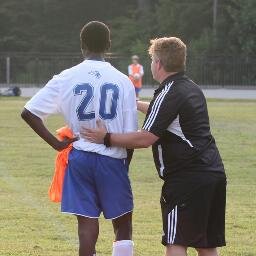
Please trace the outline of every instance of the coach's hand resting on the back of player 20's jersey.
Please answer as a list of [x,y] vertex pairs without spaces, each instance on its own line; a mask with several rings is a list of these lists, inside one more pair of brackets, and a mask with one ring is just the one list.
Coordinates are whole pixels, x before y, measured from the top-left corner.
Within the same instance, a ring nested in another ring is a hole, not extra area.
[[107,128],[101,120],[96,121],[97,128],[89,129],[89,128],[81,128],[80,135],[82,138],[97,144],[104,143],[104,137],[107,133]]

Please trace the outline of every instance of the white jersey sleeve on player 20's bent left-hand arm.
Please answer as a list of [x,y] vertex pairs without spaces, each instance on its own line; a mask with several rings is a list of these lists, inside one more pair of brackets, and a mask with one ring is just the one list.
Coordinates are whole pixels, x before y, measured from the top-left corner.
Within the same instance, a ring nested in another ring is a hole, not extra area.
[[60,112],[60,79],[54,76],[25,105],[32,114],[44,120],[48,115]]

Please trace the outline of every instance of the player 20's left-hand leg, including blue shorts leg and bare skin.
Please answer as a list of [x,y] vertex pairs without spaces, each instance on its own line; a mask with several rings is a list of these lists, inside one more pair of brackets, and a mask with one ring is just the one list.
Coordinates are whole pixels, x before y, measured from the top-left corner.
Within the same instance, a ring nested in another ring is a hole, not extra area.
[[72,149],[63,184],[61,211],[77,216],[80,256],[95,253],[99,233],[101,207],[94,184],[94,162],[94,154]]

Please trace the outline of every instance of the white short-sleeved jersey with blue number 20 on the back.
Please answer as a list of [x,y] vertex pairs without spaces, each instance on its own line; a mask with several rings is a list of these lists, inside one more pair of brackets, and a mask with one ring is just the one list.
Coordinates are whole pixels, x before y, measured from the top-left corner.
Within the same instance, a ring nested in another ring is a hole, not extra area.
[[[25,108],[44,120],[61,113],[75,135],[81,127],[95,128],[104,121],[108,132],[138,129],[136,97],[130,79],[104,61],[85,60],[54,76]],[[113,158],[126,158],[125,148],[95,144],[80,138],[74,148]]]

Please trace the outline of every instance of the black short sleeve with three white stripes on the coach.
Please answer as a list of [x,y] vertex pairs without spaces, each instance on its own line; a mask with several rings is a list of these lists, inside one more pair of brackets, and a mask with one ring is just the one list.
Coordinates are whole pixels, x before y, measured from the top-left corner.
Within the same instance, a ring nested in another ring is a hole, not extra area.
[[173,90],[172,84],[165,88],[150,103],[142,129],[161,137],[177,117],[183,97]]

